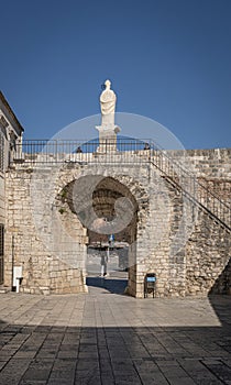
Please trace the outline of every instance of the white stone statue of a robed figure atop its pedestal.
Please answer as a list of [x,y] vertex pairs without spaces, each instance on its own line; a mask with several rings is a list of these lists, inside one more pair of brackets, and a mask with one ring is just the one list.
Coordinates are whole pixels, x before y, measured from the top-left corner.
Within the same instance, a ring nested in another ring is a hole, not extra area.
[[110,88],[110,80],[106,80],[105,85],[106,89],[100,96],[101,127],[103,127],[105,129],[109,129],[111,127],[114,127],[114,110],[117,96],[114,91],[112,91],[112,89]]

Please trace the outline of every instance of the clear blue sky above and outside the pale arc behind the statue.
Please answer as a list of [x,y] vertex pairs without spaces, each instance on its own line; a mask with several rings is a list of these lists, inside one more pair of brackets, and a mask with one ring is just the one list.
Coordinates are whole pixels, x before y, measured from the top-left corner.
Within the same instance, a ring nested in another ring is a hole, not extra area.
[[110,78],[117,111],[156,120],[186,148],[231,147],[230,0],[0,6],[0,89],[26,139],[99,113]]

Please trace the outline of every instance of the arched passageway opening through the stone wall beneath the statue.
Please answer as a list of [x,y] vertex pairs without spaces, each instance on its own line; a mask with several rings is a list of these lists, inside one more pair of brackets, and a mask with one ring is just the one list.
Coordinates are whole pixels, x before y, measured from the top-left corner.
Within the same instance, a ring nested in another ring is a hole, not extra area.
[[[113,177],[87,175],[73,180],[66,191],[72,212],[87,229],[87,284],[102,285],[97,278],[107,275],[107,285],[122,279],[121,287],[128,286],[136,258],[139,211],[130,188]],[[119,286],[111,284],[118,293]]]

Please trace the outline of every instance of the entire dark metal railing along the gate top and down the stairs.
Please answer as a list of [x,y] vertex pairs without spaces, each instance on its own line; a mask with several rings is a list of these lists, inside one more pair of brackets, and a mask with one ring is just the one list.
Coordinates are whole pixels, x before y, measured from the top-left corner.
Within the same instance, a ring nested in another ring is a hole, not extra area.
[[[56,163],[79,164],[150,164],[170,184],[183,191],[194,205],[199,205],[227,229],[231,230],[231,208],[213,191],[198,182],[184,164],[175,161],[173,152],[163,150],[152,140],[118,138],[112,140],[31,140],[15,147],[13,162],[32,165]],[[183,156],[184,158],[184,156]]]

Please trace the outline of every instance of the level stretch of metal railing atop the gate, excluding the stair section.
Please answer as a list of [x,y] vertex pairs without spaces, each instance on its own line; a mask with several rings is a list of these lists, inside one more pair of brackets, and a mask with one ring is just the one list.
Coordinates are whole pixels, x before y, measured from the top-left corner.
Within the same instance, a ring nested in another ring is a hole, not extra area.
[[[111,140],[79,141],[79,140],[26,140],[15,146],[13,162],[29,164],[53,164],[63,162],[85,161],[96,163],[102,157],[106,163],[141,163],[144,160],[138,155],[143,151],[147,141],[118,139],[117,144]],[[147,153],[146,153],[147,154]],[[131,158],[131,155],[134,155]]]

